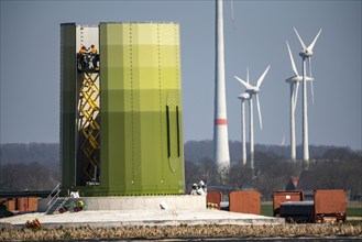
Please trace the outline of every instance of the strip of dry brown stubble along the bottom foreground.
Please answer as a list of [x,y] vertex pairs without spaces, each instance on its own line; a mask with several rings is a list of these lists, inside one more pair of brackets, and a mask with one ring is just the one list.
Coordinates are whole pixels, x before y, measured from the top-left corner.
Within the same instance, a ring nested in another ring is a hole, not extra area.
[[362,240],[362,223],[358,224],[276,224],[276,226],[177,226],[122,228],[0,229],[1,241],[12,240],[117,240],[117,239],[259,239],[315,238]]

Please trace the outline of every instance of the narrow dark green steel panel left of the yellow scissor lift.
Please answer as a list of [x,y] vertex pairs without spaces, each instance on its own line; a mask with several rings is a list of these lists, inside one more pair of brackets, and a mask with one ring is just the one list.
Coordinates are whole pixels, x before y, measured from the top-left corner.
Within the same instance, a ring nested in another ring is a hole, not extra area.
[[75,186],[76,25],[61,25],[61,161],[62,187]]

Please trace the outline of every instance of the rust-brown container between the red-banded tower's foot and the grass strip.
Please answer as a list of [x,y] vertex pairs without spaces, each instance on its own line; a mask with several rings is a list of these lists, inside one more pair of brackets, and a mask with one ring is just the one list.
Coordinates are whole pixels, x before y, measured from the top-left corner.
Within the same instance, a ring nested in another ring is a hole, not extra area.
[[229,194],[229,211],[260,215],[261,194],[256,190],[231,191]]

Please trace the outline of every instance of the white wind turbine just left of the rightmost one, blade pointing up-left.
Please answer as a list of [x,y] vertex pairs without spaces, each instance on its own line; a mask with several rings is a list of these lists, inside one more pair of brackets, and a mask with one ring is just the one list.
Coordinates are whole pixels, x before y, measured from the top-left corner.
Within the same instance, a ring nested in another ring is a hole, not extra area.
[[[298,74],[288,42],[286,42],[286,46],[288,47],[292,68],[294,72],[294,76],[287,78],[285,81],[288,82],[290,86],[290,160],[295,162],[296,161],[295,107],[297,105],[298,88],[299,88],[299,82],[303,81],[303,76],[299,76]],[[310,77],[306,77],[306,80],[312,81],[314,79]]]

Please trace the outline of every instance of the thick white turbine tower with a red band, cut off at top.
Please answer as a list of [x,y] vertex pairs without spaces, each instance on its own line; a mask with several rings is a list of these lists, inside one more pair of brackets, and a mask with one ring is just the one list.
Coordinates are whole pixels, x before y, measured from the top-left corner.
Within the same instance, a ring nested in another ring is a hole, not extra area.
[[222,0],[216,0],[216,32],[213,161],[220,172],[230,167],[224,82]]

